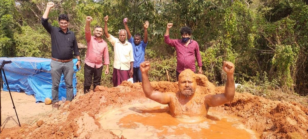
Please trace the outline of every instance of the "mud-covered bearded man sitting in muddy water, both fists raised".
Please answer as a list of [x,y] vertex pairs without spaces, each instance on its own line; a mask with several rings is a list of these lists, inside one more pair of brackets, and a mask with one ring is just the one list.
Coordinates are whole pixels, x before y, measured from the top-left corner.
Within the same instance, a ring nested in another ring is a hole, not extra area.
[[150,62],[146,61],[140,64],[143,92],[146,97],[160,104],[168,104],[173,117],[190,119],[188,122],[201,121],[207,116],[209,107],[223,105],[233,100],[235,93],[234,67],[232,62],[223,62],[222,69],[227,73],[225,93],[202,94],[197,88],[195,73],[189,69],[182,71],[179,75],[178,92],[162,93],[152,89],[148,78]]

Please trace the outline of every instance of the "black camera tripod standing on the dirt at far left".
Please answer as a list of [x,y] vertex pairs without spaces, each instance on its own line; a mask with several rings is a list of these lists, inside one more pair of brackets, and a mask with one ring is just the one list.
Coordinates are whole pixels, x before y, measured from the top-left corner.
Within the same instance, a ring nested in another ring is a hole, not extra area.
[[[9,87],[9,84],[6,80],[6,76],[5,76],[5,73],[4,73],[4,65],[5,64],[8,64],[8,63],[12,63],[12,61],[5,61],[3,60],[1,62],[1,65],[0,65],[0,133],[1,133],[1,126],[2,126],[2,122],[1,122],[1,87],[3,88],[3,77],[5,79],[5,82],[6,82],[6,86],[7,86],[7,89],[9,90],[9,93],[10,93],[10,96],[11,96],[11,100],[12,100],[12,103],[13,103],[13,109],[15,109],[15,105],[14,105],[14,102],[13,102],[13,98],[12,98],[12,94],[11,94],[11,91],[10,91],[10,87]],[[2,73],[3,73],[3,77],[2,77]],[[16,113],[16,116],[17,116],[17,120],[18,120],[18,123],[19,123],[19,127],[20,127],[20,122],[19,122],[19,119],[18,119],[18,115],[17,115],[17,112],[16,112],[16,109],[15,109],[15,113]]]

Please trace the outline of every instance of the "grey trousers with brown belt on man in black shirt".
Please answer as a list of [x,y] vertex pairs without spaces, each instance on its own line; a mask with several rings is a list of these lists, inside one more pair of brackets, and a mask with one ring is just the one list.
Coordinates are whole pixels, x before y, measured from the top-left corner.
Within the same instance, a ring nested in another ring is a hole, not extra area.
[[51,95],[52,95],[52,102],[59,101],[59,84],[62,73],[64,74],[64,81],[66,85],[66,100],[72,101],[73,100],[73,75],[74,75],[74,63],[73,61],[70,62],[57,62],[51,60]]

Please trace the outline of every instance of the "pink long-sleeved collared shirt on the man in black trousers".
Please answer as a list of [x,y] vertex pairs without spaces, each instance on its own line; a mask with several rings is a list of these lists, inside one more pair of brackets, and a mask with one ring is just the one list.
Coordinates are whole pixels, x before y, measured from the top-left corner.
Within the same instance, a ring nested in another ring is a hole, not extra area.
[[103,57],[104,57],[104,65],[109,64],[109,53],[107,43],[101,39],[101,41],[97,41],[97,38],[91,36],[91,30],[85,31],[86,41],[87,41],[87,54],[84,62],[94,68],[100,68],[103,66]]

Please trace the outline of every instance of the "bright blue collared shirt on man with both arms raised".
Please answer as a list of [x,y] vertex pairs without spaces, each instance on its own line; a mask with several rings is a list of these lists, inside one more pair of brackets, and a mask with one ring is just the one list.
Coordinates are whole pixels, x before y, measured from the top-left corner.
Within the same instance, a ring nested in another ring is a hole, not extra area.
[[134,68],[140,67],[140,64],[144,62],[144,53],[145,48],[147,47],[148,43],[144,43],[143,40],[140,42],[139,45],[136,45],[134,43],[134,38],[131,37],[128,39],[128,42],[130,42],[133,46],[133,52],[134,52]]

